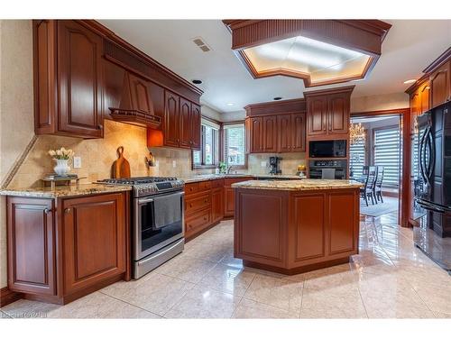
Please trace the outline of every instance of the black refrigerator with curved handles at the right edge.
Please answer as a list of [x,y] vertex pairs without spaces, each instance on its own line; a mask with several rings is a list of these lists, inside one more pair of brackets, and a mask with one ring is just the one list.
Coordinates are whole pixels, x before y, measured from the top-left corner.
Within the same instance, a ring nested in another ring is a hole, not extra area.
[[415,203],[422,213],[414,241],[430,258],[451,269],[451,102],[419,115],[417,122]]

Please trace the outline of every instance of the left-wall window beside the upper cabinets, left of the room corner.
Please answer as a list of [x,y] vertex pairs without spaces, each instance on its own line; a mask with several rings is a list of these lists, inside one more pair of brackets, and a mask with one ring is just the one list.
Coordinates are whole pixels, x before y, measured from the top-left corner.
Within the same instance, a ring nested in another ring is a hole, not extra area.
[[216,167],[219,161],[219,126],[202,119],[200,151],[193,151],[193,167]]

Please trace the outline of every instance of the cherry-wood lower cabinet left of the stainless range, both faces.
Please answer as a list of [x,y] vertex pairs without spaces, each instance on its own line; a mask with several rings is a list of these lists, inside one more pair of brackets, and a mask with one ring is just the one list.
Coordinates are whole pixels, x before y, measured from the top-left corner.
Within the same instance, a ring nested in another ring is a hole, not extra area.
[[8,196],[8,287],[66,304],[130,279],[128,203],[128,192],[56,201]]

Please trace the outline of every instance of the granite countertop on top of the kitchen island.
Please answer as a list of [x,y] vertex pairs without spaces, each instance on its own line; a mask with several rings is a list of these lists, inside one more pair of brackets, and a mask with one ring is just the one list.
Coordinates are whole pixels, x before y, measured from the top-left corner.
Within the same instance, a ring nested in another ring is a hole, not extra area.
[[270,189],[270,190],[321,190],[321,189],[345,189],[362,187],[363,184],[352,179],[301,179],[285,181],[259,181],[249,180],[234,183],[232,187],[246,189]]

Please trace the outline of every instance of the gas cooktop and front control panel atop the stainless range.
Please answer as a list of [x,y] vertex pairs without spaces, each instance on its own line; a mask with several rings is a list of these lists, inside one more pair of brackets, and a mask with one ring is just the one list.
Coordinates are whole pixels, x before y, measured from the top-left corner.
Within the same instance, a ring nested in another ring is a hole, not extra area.
[[170,191],[181,190],[185,182],[178,178],[141,177],[141,178],[106,178],[97,180],[98,184],[112,186],[132,186],[133,197],[143,197]]

